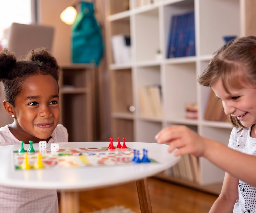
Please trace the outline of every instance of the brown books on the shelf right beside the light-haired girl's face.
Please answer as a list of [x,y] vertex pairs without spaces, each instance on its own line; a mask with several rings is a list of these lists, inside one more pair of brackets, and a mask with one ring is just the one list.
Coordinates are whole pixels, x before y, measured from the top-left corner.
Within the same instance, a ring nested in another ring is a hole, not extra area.
[[224,113],[222,101],[215,96],[213,90],[209,94],[204,119],[209,121],[228,121],[228,117]]

